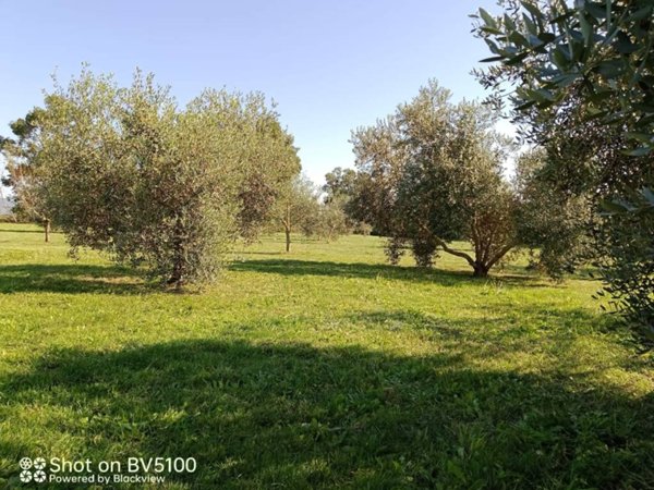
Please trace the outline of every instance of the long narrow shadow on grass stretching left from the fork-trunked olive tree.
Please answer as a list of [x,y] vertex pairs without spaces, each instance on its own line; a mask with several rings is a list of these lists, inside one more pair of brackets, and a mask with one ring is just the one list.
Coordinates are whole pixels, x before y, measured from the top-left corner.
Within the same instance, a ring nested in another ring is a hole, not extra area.
[[473,278],[472,271],[451,271],[443,269],[423,269],[416,267],[390,266],[366,262],[332,262],[313,260],[266,259],[233,262],[231,270],[243,272],[264,272],[280,275],[327,275],[361,279],[391,279],[413,282],[433,282],[440,285],[455,286],[462,284],[485,284],[501,282],[502,284],[550,287],[554,284],[538,283],[538,278],[518,274],[491,275]]

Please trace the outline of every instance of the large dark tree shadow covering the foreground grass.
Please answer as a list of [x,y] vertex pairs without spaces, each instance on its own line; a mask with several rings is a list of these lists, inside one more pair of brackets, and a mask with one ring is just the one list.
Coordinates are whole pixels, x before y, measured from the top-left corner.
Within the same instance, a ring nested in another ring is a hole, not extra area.
[[177,488],[645,488],[654,397],[600,388],[358,346],[52,350],[0,378],[0,481],[44,454],[195,457]]

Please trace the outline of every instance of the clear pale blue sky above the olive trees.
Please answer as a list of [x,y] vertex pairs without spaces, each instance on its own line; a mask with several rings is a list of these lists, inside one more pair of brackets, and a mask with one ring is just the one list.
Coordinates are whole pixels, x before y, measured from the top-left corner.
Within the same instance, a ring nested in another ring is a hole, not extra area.
[[429,77],[475,98],[488,56],[468,14],[494,0],[0,0],[0,134],[88,62],[128,83],[135,66],[180,102],[204,87],[262,90],[316,182],[353,163],[350,131],[411,98]]

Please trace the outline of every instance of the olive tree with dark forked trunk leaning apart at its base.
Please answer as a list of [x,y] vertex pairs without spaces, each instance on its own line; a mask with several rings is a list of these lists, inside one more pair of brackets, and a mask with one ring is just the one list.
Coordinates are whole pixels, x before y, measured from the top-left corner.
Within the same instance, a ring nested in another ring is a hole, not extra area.
[[[362,220],[390,236],[391,262],[408,247],[423,267],[446,253],[486,277],[521,243],[518,195],[502,177],[511,144],[495,122],[489,109],[455,105],[431,81],[393,114],[353,132],[358,208]],[[472,252],[452,244],[461,240]]]

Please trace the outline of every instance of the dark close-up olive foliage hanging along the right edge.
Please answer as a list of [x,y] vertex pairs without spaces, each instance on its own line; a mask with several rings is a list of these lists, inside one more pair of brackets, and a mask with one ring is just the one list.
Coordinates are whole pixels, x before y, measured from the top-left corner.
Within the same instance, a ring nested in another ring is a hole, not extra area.
[[509,87],[516,119],[548,147],[553,180],[567,192],[638,205],[605,221],[598,264],[606,291],[654,339],[654,4],[500,4],[502,16],[480,10],[477,34],[494,53],[486,61],[501,62],[481,79],[498,100]]

